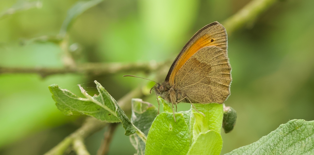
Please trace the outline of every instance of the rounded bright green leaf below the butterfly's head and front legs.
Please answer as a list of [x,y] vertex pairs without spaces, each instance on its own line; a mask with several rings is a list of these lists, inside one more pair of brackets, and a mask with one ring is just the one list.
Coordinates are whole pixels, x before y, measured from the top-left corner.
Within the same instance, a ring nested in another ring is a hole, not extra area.
[[189,128],[181,113],[162,112],[149,129],[146,155],[186,155],[190,146]]

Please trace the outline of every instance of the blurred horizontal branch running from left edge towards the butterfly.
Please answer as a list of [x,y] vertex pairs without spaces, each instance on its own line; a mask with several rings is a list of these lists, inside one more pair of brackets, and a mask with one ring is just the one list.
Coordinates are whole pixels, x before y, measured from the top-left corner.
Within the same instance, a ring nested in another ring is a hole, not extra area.
[[155,61],[145,63],[86,63],[73,68],[21,68],[21,67],[0,67],[0,74],[5,73],[37,73],[42,77],[53,74],[82,74],[82,75],[108,75],[122,72],[145,72],[156,71],[165,63]]

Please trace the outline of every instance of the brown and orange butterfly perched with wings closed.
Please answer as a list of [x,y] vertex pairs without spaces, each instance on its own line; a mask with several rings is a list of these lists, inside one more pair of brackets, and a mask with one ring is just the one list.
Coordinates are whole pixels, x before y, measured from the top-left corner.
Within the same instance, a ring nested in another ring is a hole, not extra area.
[[227,41],[226,29],[220,23],[204,26],[173,61],[165,82],[156,82],[152,88],[156,96],[172,104],[175,121],[174,105],[181,101],[222,104],[230,95],[232,78]]

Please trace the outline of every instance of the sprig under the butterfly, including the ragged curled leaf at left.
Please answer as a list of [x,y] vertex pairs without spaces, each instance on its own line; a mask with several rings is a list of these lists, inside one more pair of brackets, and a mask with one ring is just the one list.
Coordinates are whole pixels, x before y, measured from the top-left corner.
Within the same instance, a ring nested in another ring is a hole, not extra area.
[[[222,148],[220,130],[223,119],[221,104],[195,104],[195,107],[206,115],[204,117],[194,109],[175,113],[172,105],[158,98],[165,112],[157,116],[157,108],[141,99],[132,99],[131,121],[118,106],[116,100],[95,81],[99,95],[89,96],[80,86],[86,98],[80,98],[72,92],[57,85],[49,86],[56,106],[65,115],[79,112],[107,122],[122,122],[130,135],[132,145],[138,155],[174,154],[186,155],[195,152],[219,154]],[[192,108],[192,106],[191,106]],[[171,111],[171,112],[169,112]],[[156,117],[157,116],[157,117]],[[136,133],[136,134],[135,134]],[[146,141],[146,136],[147,141]],[[145,145],[146,143],[146,145]],[[202,147],[202,151],[197,151]],[[207,149],[205,149],[207,148]],[[208,149],[209,148],[209,149]]]

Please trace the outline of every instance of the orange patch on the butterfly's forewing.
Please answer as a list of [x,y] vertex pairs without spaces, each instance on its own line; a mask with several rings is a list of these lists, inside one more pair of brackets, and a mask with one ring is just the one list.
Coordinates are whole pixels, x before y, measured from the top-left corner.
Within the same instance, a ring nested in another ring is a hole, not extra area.
[[187,62],[188,59],[191,58],[191,56],[196,53],[199,49],[206,47],[206,46],[215,46],[215,43],[211,41],[211,37],[208,36],[208,34],[203,35],[200,37],[198,40],[196,40],[189,49],[187,49],[182,56],[178,59],[175,67],[173,68],[170,78],[169,78],[169,83],[170,85],[174,85],[175,83],[175,77],[177,72],[180,70],[180,68],[184,65],[185,62]]

